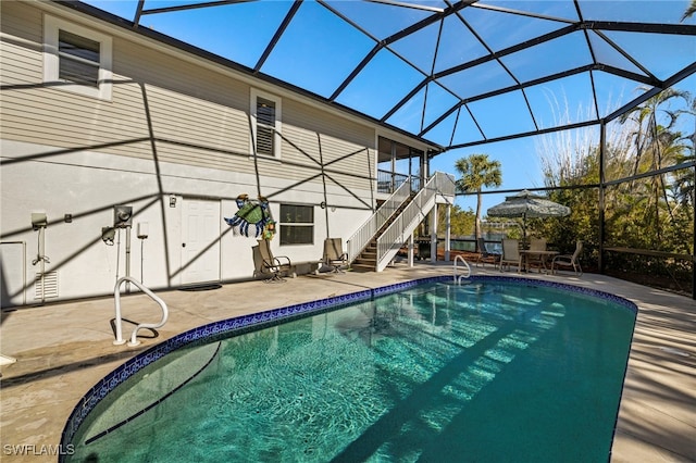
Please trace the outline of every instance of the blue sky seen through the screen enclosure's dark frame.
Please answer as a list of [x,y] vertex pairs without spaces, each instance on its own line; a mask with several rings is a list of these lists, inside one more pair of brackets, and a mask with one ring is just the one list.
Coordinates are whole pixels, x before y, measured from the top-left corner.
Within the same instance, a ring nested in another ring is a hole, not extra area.
[[[412,0],[407,0],[413,2]],[[87,0],[86,3],[133,20],[136,0]],[[186,3],[202,2],[189,0]],[[570,1],[555,0],[487,0],[499,8],[530,9],[554,18],[576,20],[576,11]],[[181,5],[177,0],[146,0],[145,9]],[[439,7],[442,1],[419,0],[425,7]],[[357,2],[356,0],[333,1],[334,11],[313,1],[300,7],[288,28],[281,36],[276,47],[263,61],[261,71],[275,75],[293,85],[328,98],[347,75],[375,46],[375,41],[389,37],[414,21],[432,14],[432,11],[395,8],[380,3]],[[291,2],[286,0],[238,3],[225,7],[202,8],[144,15],[140,24],[179,40],[207,49],[228,58],[245,66],[259,65],[266,43],[275,34]],[[679,18],[686,10],[688,0],[635,1],[635,0],[581,0],[585,20],[616,20],[635,22],[666,22],[669,24],[696,24],[696,17],[684,23]],[[349,22],[339,18],[344,15]],[[388,15],[388,16],[387,16]],[[434,24],[382,49],[364,70],[337,96],[336,101],[349,105],[373,117],[381,118],[397,104],[405,95],[418,88],[424,75],[456,66],[487,54],[481,42],[493,50],[502,50],[521,40],[550,33],[563,26],[560,21],[545,21],[523,15],[502,14],[485,9],[464,9],[462,13],[482,40],[462,26],[456,17],[449,17],[440,25]],[[384,21],[388,17],[389,21]],[[500,21],[492,23],[492,18]],[[451,20],[451,21],[450,21]],[[505,33],[500,33],[502,30]],[[642,73],[645,66],[658,78],[666,78],[696,61],[696,38],[694,36],[664,37],[655,40],[650,35],[635,35],[625,32],[602,32],[604,37],[589,33],[596,58],[602,64],[621,67],[629,72]],[[437,38],[440,37],[440,41]],[[545,42],[504,57],[498,63],[484,63],[473,68],[446,75],[438,79],[443,86],[428,84],[413,98],[395,111],[387,122],[412,133],[423,132],[444,111],[460,99],[480,95],[499,87],[520,82],[532,82],[545,75],[592,62],[586,38],[583,33],[563,36],[552,43]],[[452,46],[445,47],[447,40]],[[631,62],[617,52],[610,42],[639,57],[639,62]],[[437,53],[435,50],[437,49]],[[558,50],[562,50],[559,52]],[[340,52],[337,52],[339,50]],[[542,65],[538,55],[548,55]],[[504,67],[505,66],[505,67]],[[514,76],[511,77],[510,73]],[[331,72],[330,72],[331,71]],[[385,76],[390,76],[385,78]],[[618,77],[611,73],[594,72],[600,115],[609,114],[635,98],[639,84]],[[679,88],[696,93],[696,76],[682,80]],[[375,98],[378,96],[378,98]],[[526,104],[530,104],[534,120]],[[594,118],[592,80],[589,73],[569,76],[543,85],[534,85],[521,91],[509,92],[484,101],[469,103],[469,111],[455,112],[438,126],[426,130],[423,136],[443,146],[467,143],[483,138],[501,137],[513,133],[552,127],[567,122],[582,122]],[[456,125],[455,125],[456,123]],[[694,117],[684,120],[684,132],[693,132]],[[596,126],[573,134],[582,142],[598,139]],[[455,162],[472,153],[486,153],[498,160],[502,166],[502,186],[512,190],[544,186],[542,158],[552,155],[554,147],[567,142],[559,135],[526,137],[515,140],[480,145],[439,154],[431,162],[431,170],[456,175]],[[484,213],[492,205],[501,202],[506,195],[485,195]],[[459,197],[462,209],[475,209],[475,197]]]

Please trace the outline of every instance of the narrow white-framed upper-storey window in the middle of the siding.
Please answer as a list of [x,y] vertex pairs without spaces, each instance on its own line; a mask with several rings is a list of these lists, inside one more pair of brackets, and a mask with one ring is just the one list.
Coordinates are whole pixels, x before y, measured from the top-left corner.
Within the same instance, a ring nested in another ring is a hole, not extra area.
[[[251,90],[251,121],[253,137],[251,153],[281,158],[281,100],[268,93]],[[254,149],[256,146],[256,149]]]

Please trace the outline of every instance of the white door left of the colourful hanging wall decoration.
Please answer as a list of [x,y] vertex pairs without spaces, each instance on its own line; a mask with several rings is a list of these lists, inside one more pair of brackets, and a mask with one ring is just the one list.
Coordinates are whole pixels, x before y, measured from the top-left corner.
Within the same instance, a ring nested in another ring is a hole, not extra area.
[[220,281],[220,201],[182,201],[182,284]]

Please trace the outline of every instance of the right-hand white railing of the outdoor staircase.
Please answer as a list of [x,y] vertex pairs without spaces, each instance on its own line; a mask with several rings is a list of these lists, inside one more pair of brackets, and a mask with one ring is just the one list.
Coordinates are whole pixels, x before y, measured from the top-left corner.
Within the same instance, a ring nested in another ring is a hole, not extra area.
[[436,172],[399,216],[377,238],[376,271],[382,272],[435,205],[437,195],[455,196],[455,179]]

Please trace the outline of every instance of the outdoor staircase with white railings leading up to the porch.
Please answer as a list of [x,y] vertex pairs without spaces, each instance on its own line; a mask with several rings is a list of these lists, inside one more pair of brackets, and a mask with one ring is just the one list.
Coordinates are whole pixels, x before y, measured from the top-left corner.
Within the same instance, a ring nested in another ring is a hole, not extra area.
[[455,196],[455,179],[436,172],[417,193],[408,178],[348,239],[348,261],[356,271],[382,272],[436,204]]

